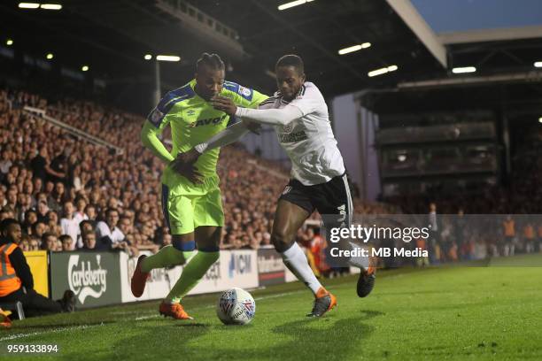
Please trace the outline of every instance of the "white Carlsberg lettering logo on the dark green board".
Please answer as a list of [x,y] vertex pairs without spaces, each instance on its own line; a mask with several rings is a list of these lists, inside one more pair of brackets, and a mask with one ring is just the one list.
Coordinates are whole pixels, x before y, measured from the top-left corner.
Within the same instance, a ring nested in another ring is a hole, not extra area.
[[81,304],[88,296],[99,298],[107,289],[107,270],[102,269],[100,259],[101,256],[96,255],[97,267],[93,267],[90,261],[79,264],[79,255],[70,256],[68,284]]

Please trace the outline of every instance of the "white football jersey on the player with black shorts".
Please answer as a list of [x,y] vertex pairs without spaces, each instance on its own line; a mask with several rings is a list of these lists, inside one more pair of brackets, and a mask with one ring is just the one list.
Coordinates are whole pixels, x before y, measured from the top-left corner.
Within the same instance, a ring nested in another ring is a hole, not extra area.
[[291,177],[306,186],[325,183],[345,173],[345,164],[329,122],[328,105],[320,90],[310,81],[299,89],[290,103],[275,93],[259,109],[295,106],[301,118],[284,126],[274,126],[283,150],[291,160]]

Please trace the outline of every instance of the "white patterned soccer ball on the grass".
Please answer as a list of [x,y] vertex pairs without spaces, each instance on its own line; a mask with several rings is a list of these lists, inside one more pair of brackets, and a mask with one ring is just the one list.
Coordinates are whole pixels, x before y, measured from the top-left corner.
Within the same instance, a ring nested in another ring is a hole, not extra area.
[[225,291],[216,305],[216,315],[225,325],[246,325],[255,313],[254,298],[241,288]]

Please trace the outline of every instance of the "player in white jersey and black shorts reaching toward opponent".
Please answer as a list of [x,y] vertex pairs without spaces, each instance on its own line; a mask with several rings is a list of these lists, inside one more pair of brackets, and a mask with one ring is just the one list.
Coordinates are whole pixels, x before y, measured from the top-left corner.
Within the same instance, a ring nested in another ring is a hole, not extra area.
[[[328,106],[320,90],[305,81],[303,60],[296,55],[285,55],[277,61],[275,73],[278,91],[259,104],[258,109],[240,108],[226,97],[214,97],[211,102],[216,109],[243,121],[198,144],[185,153],[185,159],[193,163],[205,150],[236,141],[253,123],[275,127],[292,168],[291,180],[277,204],[271,241],[284,264],[314,294],[313,311],[307,316],[320,317],[335,307],[337,299],[317,280],[305,253],[295,242],[296,234],[314,210],[322,215],[337,215],[331,226],[349,227],[352,197],[343,157],[329,122]],[[354,265],[361,268],[358,296],[368,296],[375,284],[375,269]]]

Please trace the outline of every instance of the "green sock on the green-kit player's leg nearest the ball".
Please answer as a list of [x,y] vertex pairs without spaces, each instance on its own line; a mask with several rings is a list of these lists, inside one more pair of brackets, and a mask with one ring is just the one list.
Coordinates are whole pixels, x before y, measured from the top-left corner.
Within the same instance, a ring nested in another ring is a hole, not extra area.
[[220,252],[197,252],[196,256],[190,259],[190,262],[184,266],[181,278],[177,280],[174,288],[166,296],[165,301],[169,303],[178,303],[183,296],[190,292],[190,289],[196,287],[197,282],[203,278],[209,267],[219,258]]

